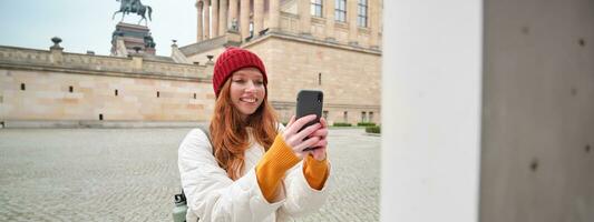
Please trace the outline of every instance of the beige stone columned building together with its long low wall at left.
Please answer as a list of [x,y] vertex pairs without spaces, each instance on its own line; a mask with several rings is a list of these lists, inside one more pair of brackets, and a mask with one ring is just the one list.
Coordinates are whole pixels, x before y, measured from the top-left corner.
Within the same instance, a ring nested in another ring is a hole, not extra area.
[[214,108],[213,64],[254,51],[281,121],[301,89],[324,91],[329,122],[380,122],[380,0],[199,0],[196,42],[155,54],[146,27],[119,23],[111,54],[0,46],[0,128],[192,125]]

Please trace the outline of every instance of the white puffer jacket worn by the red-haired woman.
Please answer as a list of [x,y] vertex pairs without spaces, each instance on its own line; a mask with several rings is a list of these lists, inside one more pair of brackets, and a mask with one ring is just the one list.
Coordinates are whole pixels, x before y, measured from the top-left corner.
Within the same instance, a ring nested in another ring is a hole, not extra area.
[[[279,130],[282,132],[284,128],[280,125]],[[199,129],[189,131],[178,150],[179,174],[188,205],[186,221],[197,221],[198,218],[201,222],[293,221],[293,218],[322,206],[331,181],[330,168],[324,188],[318,191],[305,181],[301,161],[286,172],[277,201],[269,203],[255,174],[255,165],[262,155],[264,149],[252,142],[245,151],[245,170],[233,181],[218,167],[206,134]]]

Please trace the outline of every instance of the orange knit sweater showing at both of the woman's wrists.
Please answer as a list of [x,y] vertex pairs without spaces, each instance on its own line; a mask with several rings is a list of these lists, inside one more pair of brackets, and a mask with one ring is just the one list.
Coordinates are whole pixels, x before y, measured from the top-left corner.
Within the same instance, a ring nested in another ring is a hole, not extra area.
[[[291,148],[284,143],[282,135],[276,135],[272,147],[256,165],[257,183],[269,202],[273,202],[276,198],[284,173],[299,161]],[[303,174],[311,188],[321,190],[328,178],[327,159],[318,161],[312,155],[308,155],[303,163]]]

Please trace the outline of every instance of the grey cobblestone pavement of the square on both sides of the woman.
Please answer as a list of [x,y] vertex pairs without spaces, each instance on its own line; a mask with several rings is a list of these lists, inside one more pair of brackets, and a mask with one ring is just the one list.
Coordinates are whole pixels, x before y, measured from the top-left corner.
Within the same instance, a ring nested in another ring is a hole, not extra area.
[[[0,130],[0,221],[172,221],[189,129]],[[378,221],[380,138],[330,131],[333,184],[300,221]]]

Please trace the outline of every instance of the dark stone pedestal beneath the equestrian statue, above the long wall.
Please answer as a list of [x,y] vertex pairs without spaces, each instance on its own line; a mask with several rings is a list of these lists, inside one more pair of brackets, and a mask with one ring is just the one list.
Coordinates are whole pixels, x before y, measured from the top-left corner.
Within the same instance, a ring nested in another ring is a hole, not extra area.
[[[130,53],[155,54],[155,42],[148,27],[119,22],[111,37],[111,56],[124,56],[118,52],[118,40],[123,40],[126,56]],[[120,42],[121,43],[121,42]],[[119,48],[123,48],[119,46]]]

